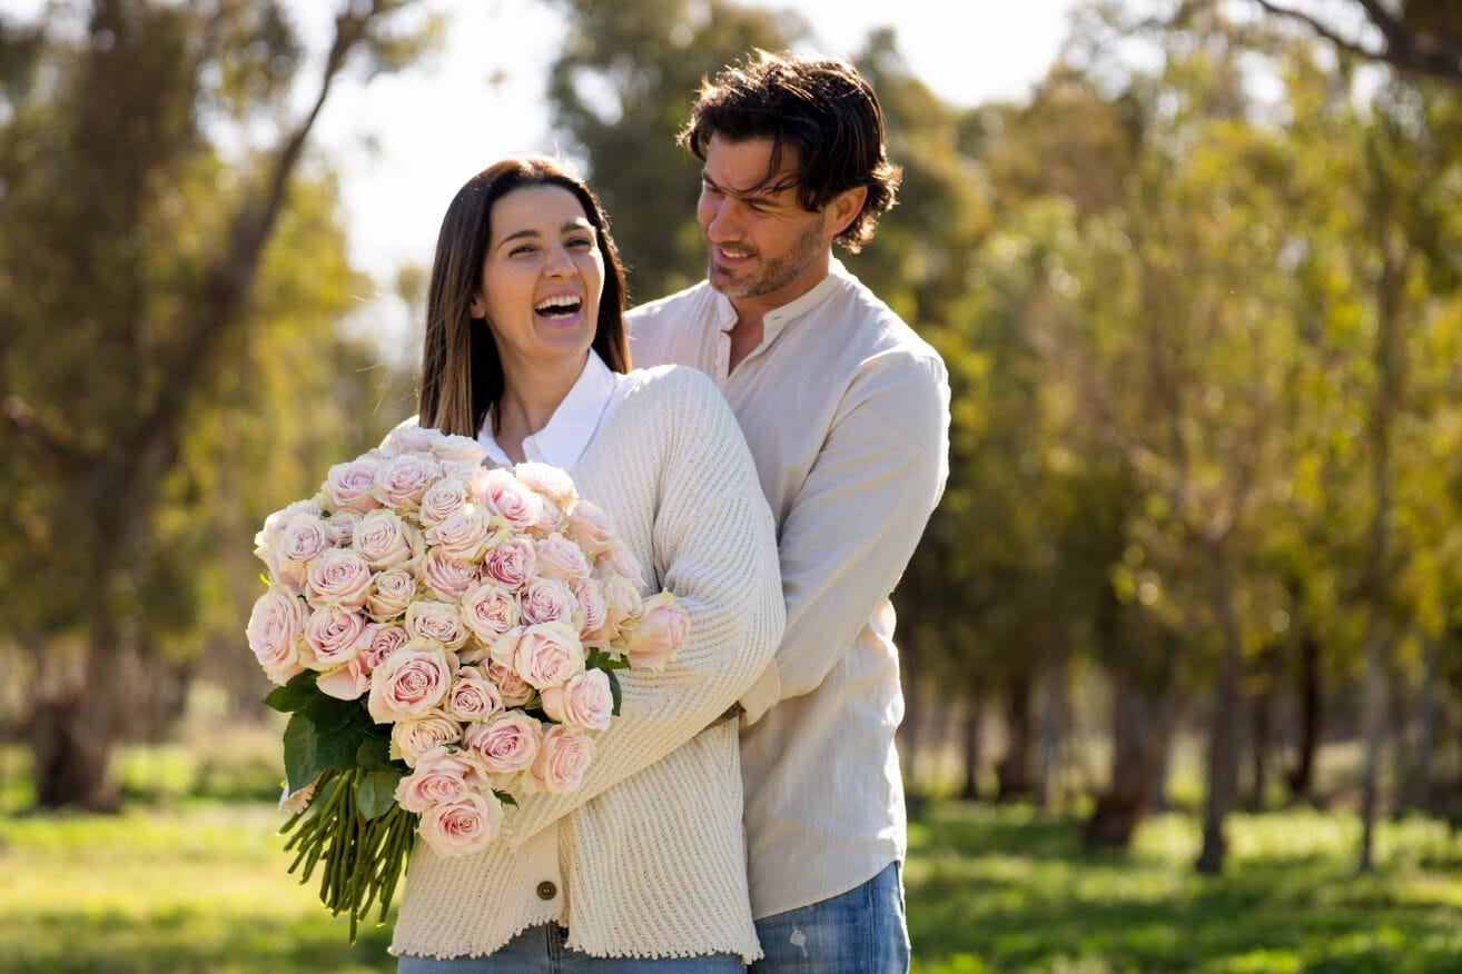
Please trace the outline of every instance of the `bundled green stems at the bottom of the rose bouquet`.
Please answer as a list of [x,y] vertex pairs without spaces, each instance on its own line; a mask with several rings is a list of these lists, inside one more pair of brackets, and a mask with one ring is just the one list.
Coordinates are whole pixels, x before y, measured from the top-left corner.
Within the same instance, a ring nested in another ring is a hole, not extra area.
[[399,805],[373,819],[361,813],[357,791],[364,774],[325,771],[310,806],[281,829],[289,834],[285,850],[295,851],[289,872],[300,870],[300,882],[308,882],[323,860],[320,902],[335,916],[349,913],[351,943],[373,902],[380,902],[379,921],[386,921],[417,834],[417,815]]

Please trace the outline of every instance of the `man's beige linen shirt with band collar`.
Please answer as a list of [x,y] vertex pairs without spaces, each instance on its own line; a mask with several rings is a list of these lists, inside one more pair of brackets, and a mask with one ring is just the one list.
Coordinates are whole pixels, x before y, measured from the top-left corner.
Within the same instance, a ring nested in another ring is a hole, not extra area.
[[731,403],[776,518],[787,632],[746,697],[757,919],[852,889],[906,850],[893,607],[949,473],[937,352],[833,261],[728,371],[731,302],[700,283],[630,312],[637,368],[677,362]]

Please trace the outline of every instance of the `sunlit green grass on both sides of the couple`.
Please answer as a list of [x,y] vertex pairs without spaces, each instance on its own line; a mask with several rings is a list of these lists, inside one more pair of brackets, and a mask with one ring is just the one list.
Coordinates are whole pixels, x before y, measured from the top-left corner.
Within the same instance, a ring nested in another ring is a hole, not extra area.
[[[156,796],[117,816],[0,818],[0,971],[393,970],[389,930],[348,948],[346,921],[285,873],[279,822],[266,802]],[[1459,843],[1439,822],[1386,822],[1380,866],[1360,876],[1357,829],[1235,815],[1228,869],[1205,878],[1186,816],[1148,822],[1127,853],[1086,853],[1031,809],[936,805],[911,824],[914,970],[1459,970]]]

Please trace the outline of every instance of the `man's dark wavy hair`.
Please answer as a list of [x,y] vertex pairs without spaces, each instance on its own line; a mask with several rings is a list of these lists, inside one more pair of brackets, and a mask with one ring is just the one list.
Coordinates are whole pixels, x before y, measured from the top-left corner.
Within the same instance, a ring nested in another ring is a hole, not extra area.
[[[772,168],[754,188],[778,191],[795,184],[797,199],[807,210],[822,210],[839,193],[868,187],[863,209],[833,238],[854,254],[873,239],[904,175],[901,166],[889,162],[883,145],[879,96],[844,58],[756,51],[702,80],[700,96],[678,140],[705,162],[715,134],[730,142],[770,139]],[[769,187],[787,146],[797,149],[792,183]]]

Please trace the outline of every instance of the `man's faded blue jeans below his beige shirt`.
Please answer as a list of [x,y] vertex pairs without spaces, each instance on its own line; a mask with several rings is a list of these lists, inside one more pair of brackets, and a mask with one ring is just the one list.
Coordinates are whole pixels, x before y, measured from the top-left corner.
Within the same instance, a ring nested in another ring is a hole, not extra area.
[[751,974],[904,974],[909,933],[904,875],[889,863],[848,892],[756,921],[765,958]]

